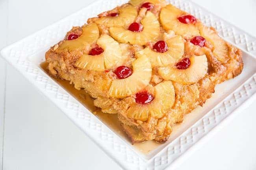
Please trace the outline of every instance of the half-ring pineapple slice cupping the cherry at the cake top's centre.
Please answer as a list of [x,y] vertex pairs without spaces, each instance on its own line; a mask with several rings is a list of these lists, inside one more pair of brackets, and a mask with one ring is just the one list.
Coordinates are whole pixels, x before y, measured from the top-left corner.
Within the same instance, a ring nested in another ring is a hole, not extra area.
[[166,42],[168,44],[168,50],[165,53],[158,53],[147,47],[137,52],[137,56],[145,55],[150,57],[152,67],[163,67],[178,62],[184,54],[183,38],[176,36]]

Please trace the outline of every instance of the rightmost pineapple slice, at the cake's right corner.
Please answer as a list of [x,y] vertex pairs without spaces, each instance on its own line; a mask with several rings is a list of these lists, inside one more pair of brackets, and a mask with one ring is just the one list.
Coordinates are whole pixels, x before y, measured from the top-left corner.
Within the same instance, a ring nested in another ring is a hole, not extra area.
[[198,28],[202,37],[213,45],[213,55],[220,61],[226,62],[228,60],[228,45],[219,37],[214,28],[206,27],[201,23],[198,23]]

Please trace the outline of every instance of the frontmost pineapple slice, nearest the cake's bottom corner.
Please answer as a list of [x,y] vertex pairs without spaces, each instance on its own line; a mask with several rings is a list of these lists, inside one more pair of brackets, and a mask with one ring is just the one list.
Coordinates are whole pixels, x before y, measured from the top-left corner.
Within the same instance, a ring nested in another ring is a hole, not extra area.
[[154,100],[148,104],[134,103],[128,109],[128,117],[146,121],[148,116],[160,119],[173,106],[175,90],[172,81],[164,81],[154,86]]

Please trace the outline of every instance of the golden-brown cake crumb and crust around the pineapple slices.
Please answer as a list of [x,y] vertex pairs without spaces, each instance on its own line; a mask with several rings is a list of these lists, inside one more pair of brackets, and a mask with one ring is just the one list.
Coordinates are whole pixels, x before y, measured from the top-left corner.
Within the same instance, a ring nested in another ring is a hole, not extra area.
[[[121,7],[126,7],[127,4]],[[88,19],[87,23],[95,23],[99,17],[107,16],[110,13],[116,13],[119,8],[107,12],[103,12],[98,17]],[[159,13],[162,5],[156,4],[151,12],[159,17]],[[139,9],[138,16],[135,21],[140,22],[145,16],[145,9]],[[195,26],[198,29],[204,28],[200,21],[197,21]],[[98,25],[100,35],[109,34],[109,27],[104,25]],[[160,28],[160,35],[158,40],[175,37],[173,31],[165,31],[162,27]],[[217,32],[214,28],[210,28],[213,33]],[[243,70],[243,59],[242,53],[236,47],[225,44],[227,52],[225,56],[216,55],[216,47],[209,40],[206,41],[205,47],[200,48],[191,44],[191,37],[184,36],[184,55],[183,57],[191,57],[193,55],[206,55],[208,60],[208,71],[206,75],[193,84],[180,84],[173,81],[175,90],[175,102],[168,112],[165,113],[161,118],[155,118],[148,115],[146,121],[136,120],[128,116],[128,109],[135,103],[134,94],[124,99],[117,99],[110,97],[109,88],[113,80],[117,79],[114,69],[106,71],[93,71],[77,68],[75,66],[76,61],[83,55],[88,54],[89,50],[95,46],[93,44],[85,44],[82,49],[69,50],[58,50],[59,46],[67,40],[67,37],[75,33],[77,35],[82,34],[82,27],[73,27],[66,35],[65,39],[46,52],[46,61],[49,63],[48,69],[52,75],[58,78],[69,80],[70,83],[74,84],[74,87],[78,90],[83,89],[88,92],[93,98],[95,98],[95,106],[102,109],[102,112],[118,114],[119,121],[123,130],[130,137],[132,143],[143,142],[148,140],[155,140],[158,142],[165,142],[168,140],[172,127],[179,122],[183,121],[184,115],[190,113],[198,105],[203,106],[207,99],[214,93],[216,84],[219,84],[225,80],[232,79],[241,73]],[[146,46],[150,49],[153,47],[153,43],[156,41],[148,42]],[[132,67],[132,62],[136,60],[136,53],[145,48],[145,46],[131,45],[131,44],[120,44],[122,54],[127,55],[128,59],[124,63],[125,66]],[[224,58],[220,60],[219,58]],[[163,78],[158,74],[158,67],[152,69],[152,77],[149,85],[145,90],[154,92],[154,86],[163,82]]]

